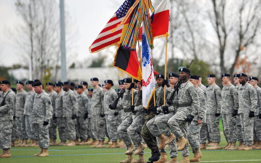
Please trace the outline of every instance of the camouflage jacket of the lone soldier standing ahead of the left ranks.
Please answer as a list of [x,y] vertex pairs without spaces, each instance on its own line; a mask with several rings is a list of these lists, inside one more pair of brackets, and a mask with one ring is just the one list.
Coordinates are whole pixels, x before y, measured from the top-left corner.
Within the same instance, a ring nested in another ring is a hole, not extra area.
[[34,107],[32,113],[32,123],[49,122],[52,118],[52,102],[50,95],[45,92],[34,96]]

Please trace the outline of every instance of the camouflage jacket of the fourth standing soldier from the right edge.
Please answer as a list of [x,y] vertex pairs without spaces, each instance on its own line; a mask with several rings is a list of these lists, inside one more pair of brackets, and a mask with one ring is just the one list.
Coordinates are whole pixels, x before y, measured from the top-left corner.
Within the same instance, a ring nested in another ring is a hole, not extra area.
[[235,86],[232,84],[224,86],[221,95],[221,114],[232,114],[233,110],[238,110],[238,93]]

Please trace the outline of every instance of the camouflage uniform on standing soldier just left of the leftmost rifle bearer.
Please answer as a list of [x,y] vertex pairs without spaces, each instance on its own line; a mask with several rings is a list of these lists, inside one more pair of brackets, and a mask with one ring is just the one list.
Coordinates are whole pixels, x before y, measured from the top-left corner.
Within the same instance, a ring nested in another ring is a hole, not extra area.
[[[118,116],[115,116],[114,113],[118,112],[118,110],[111,110],[109,105],[117,97],[117,92],[114,89],[109,89],[104,93],[104,114],[106,119],[106,128],[108,135],[111,141],[117,141],[118,139]],[[119,99],[118,103],[121,103],[121,98]]]

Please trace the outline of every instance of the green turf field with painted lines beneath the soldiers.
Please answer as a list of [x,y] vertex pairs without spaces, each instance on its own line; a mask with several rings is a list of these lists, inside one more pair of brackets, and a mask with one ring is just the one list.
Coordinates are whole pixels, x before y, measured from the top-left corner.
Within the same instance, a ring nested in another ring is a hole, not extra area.
[[[224,135],[221,128],[221,146],[226,145]],[[57,140],[59,142],[59,140]],[[238,143],[237,143],[238,145]],[[89,145],[64,147],[64,146],[51,146],[49,148],[49,157],[34,157],[40,151],[37,147],[12,147],[11,158],[0,158],[0,163],[50,163],[50,162],[85,162],[85,163],[118,163],[120,160],[125,160],[126,152],[122,148],[90,148]],[[201,162],[246,162],[246,163],[259,163],[261,162],[261,150],[252,151],[227,151],[227,150],[202,150],[203,157]],[[145,162],[151,156],[150,150],[145,149]],[[169,153],[167,155],[170,160]],[[193,154],[190,148],[190,156]],[[134,156],[136,160],[138,156]],[[181,153],[178,152],[178,161],[181,161]],[[249,160],[249,161],[247,161]]]

